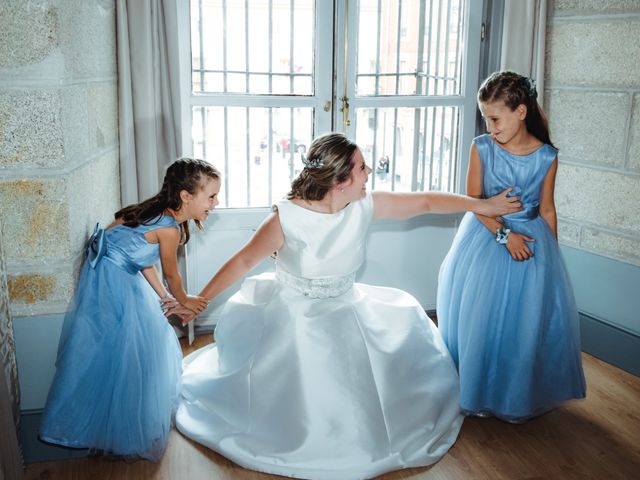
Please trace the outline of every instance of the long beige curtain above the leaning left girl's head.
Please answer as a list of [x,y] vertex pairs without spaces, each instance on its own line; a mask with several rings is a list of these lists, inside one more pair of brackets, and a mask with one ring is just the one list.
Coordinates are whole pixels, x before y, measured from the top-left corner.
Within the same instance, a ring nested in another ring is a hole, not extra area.
[[180,151],[177,0],[117,0],[123,205],[160,190]]

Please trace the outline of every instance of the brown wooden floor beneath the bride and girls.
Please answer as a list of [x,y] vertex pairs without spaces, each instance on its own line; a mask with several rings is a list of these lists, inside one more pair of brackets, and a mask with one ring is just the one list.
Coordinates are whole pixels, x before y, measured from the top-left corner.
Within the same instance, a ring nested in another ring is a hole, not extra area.
[[[185,352],[210,341],[200,336]],[[522,425],[465,419],[449,453],[428,468],[400,470],[384,480],[640,479],[640,378],[583,354],[586,400]],[[158,464],[84,458],[27,465],[30,479],[281,478],[245,470],[173,431]]]

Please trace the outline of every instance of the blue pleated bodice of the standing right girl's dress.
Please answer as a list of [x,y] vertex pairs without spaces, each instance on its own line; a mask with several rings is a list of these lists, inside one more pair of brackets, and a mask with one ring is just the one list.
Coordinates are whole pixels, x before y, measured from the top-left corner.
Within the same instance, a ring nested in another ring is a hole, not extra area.
[[520,196],[523,211],[504,218],[518,221],[536,217],[542,183],[558,151],[544,144],[528,155],[515,155],[486,134],[476,137],[473,142],[482,163],[484,196],[488,198],[512,187],[511,194]]

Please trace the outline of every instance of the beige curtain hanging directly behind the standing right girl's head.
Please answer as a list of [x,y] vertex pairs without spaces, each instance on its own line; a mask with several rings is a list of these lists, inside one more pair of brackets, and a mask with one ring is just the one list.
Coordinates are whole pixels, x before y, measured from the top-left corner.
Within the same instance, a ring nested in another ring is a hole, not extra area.
[[505,0],[501,70],[514,70],[536,81],[538,103],[544,92],[547,0]]

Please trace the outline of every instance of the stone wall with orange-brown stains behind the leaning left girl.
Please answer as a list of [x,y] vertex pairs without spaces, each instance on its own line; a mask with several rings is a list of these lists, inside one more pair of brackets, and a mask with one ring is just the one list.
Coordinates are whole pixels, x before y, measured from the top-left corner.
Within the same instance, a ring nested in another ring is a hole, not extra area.
[[120,206],[115,0],[0,3],[0,221],[10,308],[63,313]]

